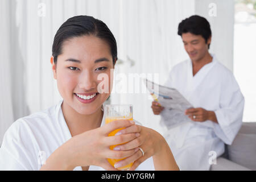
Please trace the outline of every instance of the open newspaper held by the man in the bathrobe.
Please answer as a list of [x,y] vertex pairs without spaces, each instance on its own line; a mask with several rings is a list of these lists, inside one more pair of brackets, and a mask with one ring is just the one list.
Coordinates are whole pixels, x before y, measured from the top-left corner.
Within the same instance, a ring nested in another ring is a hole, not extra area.
[[164,110],[160,113],[161,122],[168,129],[186,122],[191,122],[191,119],[185,115],[185,110],[193,106],[178,90],[155,84],[147,79],[144,79],[144,82],[152,98],[164,107]]

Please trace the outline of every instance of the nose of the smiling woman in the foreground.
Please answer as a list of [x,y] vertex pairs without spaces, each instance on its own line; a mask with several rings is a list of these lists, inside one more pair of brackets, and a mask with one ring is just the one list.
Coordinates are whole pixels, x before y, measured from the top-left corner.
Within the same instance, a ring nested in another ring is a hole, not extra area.
[[93,74],[86,71],[79,77],[79,87],[85,90],[92,90],[97,87],[97,81],[94,80]]

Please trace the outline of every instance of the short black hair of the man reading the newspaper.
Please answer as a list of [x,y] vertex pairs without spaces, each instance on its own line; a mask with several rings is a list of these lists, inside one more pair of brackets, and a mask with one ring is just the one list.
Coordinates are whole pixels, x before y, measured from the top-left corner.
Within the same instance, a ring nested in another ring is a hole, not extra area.
[[[207,40],[210,38],[210,36],[212,36],[210,23],[207,21],[207,19],[199,15],[190,16],[179,23],[177,34],[181,36],[183,33],[187,32],[203,36],[205,43],[207,43]],[[208,45],[208,49],[209,48],[210,44]]]

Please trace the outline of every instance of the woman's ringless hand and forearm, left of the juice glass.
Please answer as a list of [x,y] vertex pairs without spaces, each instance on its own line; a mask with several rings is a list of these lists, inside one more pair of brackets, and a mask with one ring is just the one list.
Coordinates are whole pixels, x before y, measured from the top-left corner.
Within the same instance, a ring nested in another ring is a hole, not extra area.
[[[129,120],[113,121],[103,127],[86,131],[69,139],[46,161],[42,169],[69,169],[76,166],[100,166],[106,170],[117,170],[112,167],[107,158],[123,159],[136,153],[137,147],[126,151],[110,150],[110,146],[130,142],[137,138],[136,132],[108,137],[108,134],[116,129],[133,126]],[[48,164],[48,166],[47,166]]]

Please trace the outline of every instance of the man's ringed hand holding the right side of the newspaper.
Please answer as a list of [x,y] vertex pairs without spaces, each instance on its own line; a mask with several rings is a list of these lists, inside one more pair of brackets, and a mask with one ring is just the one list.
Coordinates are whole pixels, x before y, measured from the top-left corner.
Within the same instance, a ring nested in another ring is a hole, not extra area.
[[204,122],[204,121],[210,120],[210,121],[218,123],[214,111],[208,111],[201,107],[187,109],[187,110],[185,110],[185,115],[188,115],[188,117],[192,121]]

